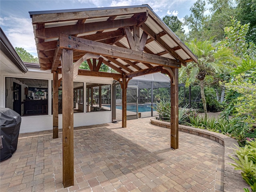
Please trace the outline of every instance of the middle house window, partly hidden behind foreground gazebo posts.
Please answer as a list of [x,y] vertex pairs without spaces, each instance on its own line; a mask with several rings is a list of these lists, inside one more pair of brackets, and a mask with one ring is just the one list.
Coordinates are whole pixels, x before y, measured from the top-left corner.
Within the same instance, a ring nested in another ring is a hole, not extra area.
[[[83,82],[74,82],[73,84],[73,93],[74,93],[74,113],[84,112],[84,83]],[[53,82],[52,82],[53,88]],[[52,89],[53,90],[53,89]],[[58,97],[58,112],[62,114],[62,82],[60,82],[59,87],[59,97]],[[53,102],[52,102],[53,104]]]

